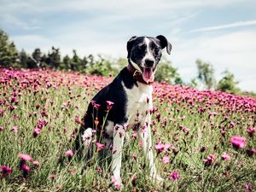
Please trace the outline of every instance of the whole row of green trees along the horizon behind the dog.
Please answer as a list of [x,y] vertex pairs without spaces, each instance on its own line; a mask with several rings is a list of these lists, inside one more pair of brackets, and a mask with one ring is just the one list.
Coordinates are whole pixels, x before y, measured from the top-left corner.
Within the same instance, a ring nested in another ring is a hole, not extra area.
[[[235,76],[230,71],[225,70],[220,80],[214,76],[214,68],[211,63],[197,60],[195,61],[197,73],[190,82],[184,82],[177,68],[172,62],[163,57],[159,64],[159,69],[155,73],[156,81],[166,81],[170,84],[189,85],[195,88],[220,90],[236,94],[247,94],[242,92],[237,84]],[[6,32],[0,29],[0,65],[2,67],[17,68],[53,68],[59,70],[73,70],[79,73],[115,76],[122,67],[127,65],[126,58],[111,58],[103,55],[86,55],[79,57],[77,51],[73,49],[73,55],[61,56],[59,48],[54,46],[45,54],[37,48],[30,54],[24,49],[20,52],[16,49],[15,43],[9,41]],[[250,93],[255,96],[255,94]]]

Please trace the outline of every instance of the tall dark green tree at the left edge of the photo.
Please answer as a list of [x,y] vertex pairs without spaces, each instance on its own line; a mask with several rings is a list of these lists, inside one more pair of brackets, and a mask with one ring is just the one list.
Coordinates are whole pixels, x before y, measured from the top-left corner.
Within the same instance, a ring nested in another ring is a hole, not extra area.
[[3,67],[18,67],[17,59],[18,51],[14,42],[9,42],[8,35],[0,29],[0,65]]

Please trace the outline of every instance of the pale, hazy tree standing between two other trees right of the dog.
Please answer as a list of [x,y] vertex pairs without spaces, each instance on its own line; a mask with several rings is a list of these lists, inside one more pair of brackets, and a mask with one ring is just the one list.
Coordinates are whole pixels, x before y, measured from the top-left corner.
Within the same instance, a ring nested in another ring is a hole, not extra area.
[[201,81],[204,86],[210,90],[214,89],[215,79],[214,79],[214,69],[210,63],[203,62],[201,60],[196,60],[198,76],[197,79]]

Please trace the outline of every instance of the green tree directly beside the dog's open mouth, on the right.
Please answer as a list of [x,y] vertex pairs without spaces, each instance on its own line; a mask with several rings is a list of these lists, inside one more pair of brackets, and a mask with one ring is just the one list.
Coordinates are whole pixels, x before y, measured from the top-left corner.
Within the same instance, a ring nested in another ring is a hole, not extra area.
[[171,84],[183,84],[177,68],[172,67],[172,62],[163,57],[158,64],[158,69],[154,75],[156,81],[166,81]]

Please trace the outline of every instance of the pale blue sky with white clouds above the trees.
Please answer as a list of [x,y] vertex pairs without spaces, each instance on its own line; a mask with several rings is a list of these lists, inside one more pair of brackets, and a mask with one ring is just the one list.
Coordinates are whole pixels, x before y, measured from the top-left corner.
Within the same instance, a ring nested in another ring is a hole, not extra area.
[[241,90],[256,91],[255,0],[0,0],[0,28],[17,49],[52,46],[61,55],[126,56],[131,36],[164,35],[164,54],[182,79],[196,77],[197,59],[216,79],[228,69]]

